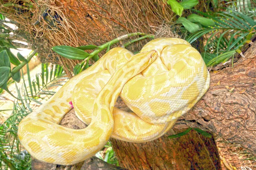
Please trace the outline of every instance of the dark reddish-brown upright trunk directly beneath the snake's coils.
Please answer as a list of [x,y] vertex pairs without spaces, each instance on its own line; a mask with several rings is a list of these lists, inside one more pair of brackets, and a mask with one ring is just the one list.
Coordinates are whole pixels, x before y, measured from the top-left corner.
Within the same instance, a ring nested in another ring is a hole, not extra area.
[[219,170],[220,162],[214,139],[195,131],[176,138],[169,133],[151,142],[129,143],[111,139],[119,164],[129,170]]

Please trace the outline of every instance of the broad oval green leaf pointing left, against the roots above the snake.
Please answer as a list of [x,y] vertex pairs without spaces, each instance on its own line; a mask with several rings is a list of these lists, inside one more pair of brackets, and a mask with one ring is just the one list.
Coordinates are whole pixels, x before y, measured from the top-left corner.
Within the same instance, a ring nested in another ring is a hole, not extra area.
[[89,56],[89,54],[83,50],[64,45],[52,47],[52,50],[68,59],[85,59]]

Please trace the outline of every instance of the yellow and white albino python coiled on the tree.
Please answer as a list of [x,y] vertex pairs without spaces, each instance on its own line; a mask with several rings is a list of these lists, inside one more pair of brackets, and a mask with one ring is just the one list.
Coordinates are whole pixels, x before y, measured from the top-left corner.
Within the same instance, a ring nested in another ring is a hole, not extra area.
[[[158,38],[139,54],[113,48],[87,70],[24,118],[18,127],[21,144],[36,159],[70,165],[90,158],[109,138],[128,142],[156,139],[172,128],[209,88],[209,72],[189,42]],[[114,107],[120,95],[134,112]],[[88,127],[59,124],[73,102]]]

